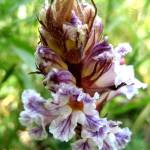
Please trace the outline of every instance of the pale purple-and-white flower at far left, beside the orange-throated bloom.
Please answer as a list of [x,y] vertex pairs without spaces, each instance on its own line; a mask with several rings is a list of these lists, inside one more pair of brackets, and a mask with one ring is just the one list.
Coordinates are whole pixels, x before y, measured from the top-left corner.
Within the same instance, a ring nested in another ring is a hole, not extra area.
[[47,101],[33,90],[24,91],[22,100],[25,110],[20,113],[20,123],[28,128],[29,134],[34,139],[46,138],[45,127],[56,114],[46,108]]

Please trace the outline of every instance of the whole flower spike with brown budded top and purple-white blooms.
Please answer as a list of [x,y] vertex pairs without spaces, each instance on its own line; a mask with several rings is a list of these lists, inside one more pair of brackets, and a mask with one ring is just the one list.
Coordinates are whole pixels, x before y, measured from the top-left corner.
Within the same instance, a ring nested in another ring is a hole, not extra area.
[[120,150],[130,141],[128,128],[101,118],[104,104],[117,95],[132,98],[146,85],[134,76],[124,56],[128,43],[113,47],[103,37],[97,9],[77,0],[54,0],[40,16],[40,43],[35,53],[38,73],[52,93],[46,100],[34,90],[22,94],[20,122],[34,139],[69,141],[73,150]]

